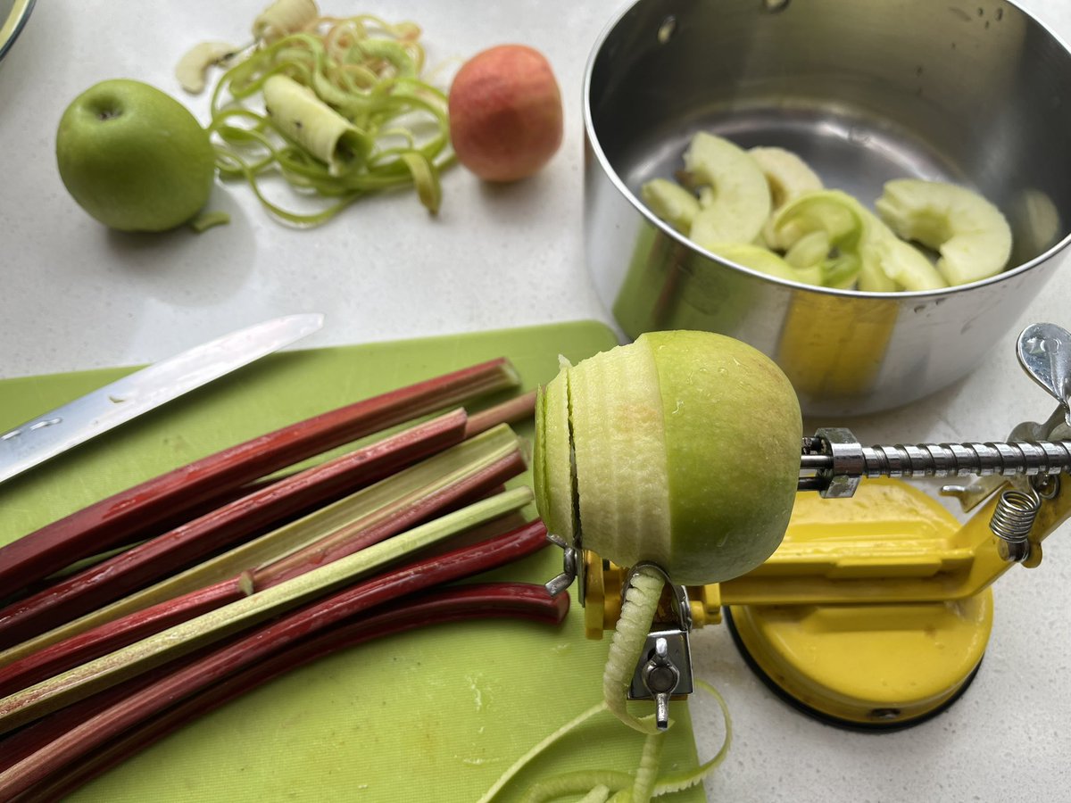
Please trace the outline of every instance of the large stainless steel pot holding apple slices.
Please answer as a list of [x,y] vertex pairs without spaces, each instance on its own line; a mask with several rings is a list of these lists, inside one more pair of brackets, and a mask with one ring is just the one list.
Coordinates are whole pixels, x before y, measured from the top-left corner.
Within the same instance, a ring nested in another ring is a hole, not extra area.
[[[907,404],[974,368],[1071,242],[1071,52],[992,0],[638,0],[585,76],[587,261],[629,337],[733,335],[770,354],[804,412]],[[692,245],[639,200],[700,130],[780,146],[872,206],[920,177],[1009,218],[1013,266],[936,292],[829,290]]]

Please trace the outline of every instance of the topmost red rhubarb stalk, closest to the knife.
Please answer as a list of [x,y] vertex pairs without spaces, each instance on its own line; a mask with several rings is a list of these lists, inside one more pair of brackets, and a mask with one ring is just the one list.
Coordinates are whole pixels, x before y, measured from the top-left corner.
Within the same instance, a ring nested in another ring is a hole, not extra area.
[[0,547],[0,596],[112,546],[160,532],[244,483],[436,410],[516,387],[507,360],[493,360],[357,402],[202,457],[72,513]]

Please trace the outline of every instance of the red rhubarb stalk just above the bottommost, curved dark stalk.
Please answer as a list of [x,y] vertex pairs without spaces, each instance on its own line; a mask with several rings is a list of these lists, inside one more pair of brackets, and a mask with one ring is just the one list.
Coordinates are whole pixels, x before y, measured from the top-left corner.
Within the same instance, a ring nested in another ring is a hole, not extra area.
[[506,535],[365,580],[257,627],[210,655],[124,696],[121,701],[94,716],[74,724],[47,746],[0,772],[0,799],[9,800],[27,791],[64,766],[107,744],[126,728],[162,713],[176,701],[209,688],[246,667],[267,661],[286,649],[288,643],[405,594],[518,560],[545,544],[546,528],[536,520]]

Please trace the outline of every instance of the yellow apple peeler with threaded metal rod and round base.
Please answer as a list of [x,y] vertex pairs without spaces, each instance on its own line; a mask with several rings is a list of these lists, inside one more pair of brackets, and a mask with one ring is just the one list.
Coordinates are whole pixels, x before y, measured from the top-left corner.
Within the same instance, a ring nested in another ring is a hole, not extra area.
[[[1042,542],[1071,516],[1071,334],[1036,323],[1016,350],[1058,406],[1005,442],[868,448],[844,428],[804,438],[780,547],[730,580],[667,582],[630,697],[664,716],[692,692],[692,630],[724,621],[766,684],[825,722],[895,730],[952,704],[979,670],[993,582],[1016,564],[1037,567]],[[963,522],[903,481],[970,475],[941,488],[969,514]],[[547,588],[577,580],[586,634],[602,638],[630,571],[553,540],[564,570]]]

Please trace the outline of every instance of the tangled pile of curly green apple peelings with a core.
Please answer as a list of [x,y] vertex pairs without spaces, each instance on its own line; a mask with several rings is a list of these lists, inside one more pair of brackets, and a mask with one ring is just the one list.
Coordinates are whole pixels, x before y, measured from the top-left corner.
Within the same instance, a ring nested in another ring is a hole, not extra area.
[[[300,226],[394,188],[414,188],[437,212],[439,175],[455,160],[446,93],[422,77],[420,34],[408,21],[325,17],[311,0],[281,0],[257,17],[251,47],[199,45],[198,66],[226,67],[208,125],[220,175],[246,180],[266,209]],[[270,176],[298,191],[300,209],[267,187]]]

